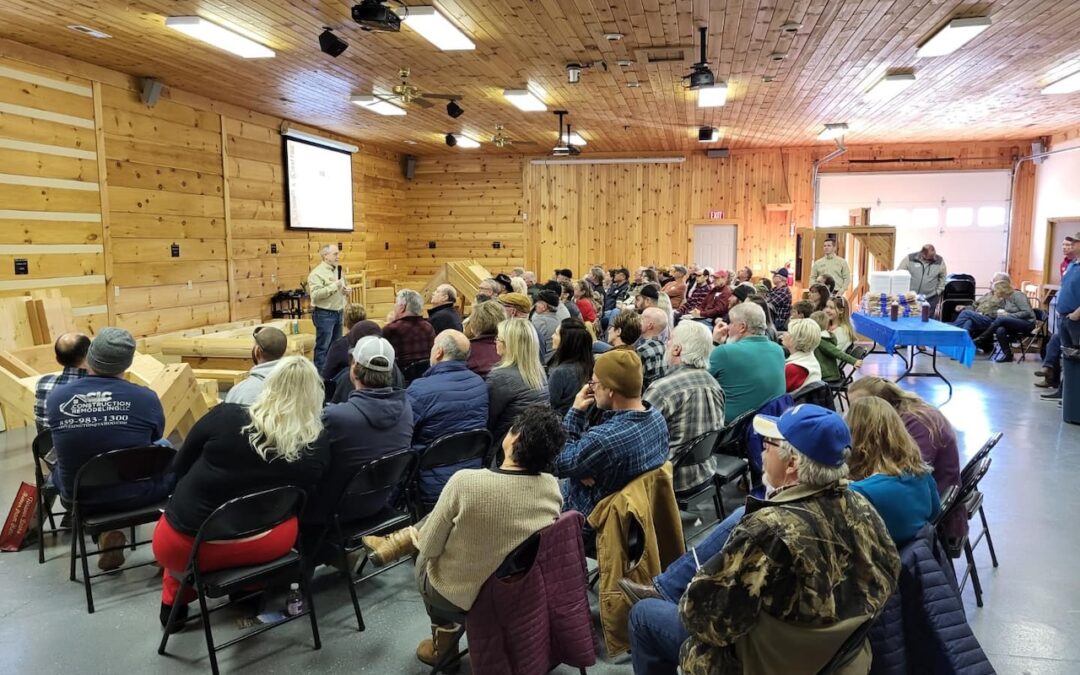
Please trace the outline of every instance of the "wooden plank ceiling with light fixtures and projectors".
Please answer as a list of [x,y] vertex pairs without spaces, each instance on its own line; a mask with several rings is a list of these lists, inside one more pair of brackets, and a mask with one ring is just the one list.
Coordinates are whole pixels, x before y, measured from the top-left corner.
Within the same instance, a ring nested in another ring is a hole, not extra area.
[[[745,148],[820,143],[825,122],[848,122],[855,144],[1032,138],[1080,122],[1080,94],[1039,93],[1080,68],[1076,0],[436,1],[476,43],[472,52],[441,52],[408,28],[365,32],[350,18],[351,4],[0,0],[0,37],[420,154],[477,152],[449,150],[444,134],[486,141],[497,122],[511,138],[535,144],[513,150],[550,149],[555,117],[518,111],[502,97],[503,89],[526,83],[543,92],[549,110],[570,111],[586,152],[699,149],[699,125],[720,127],[713,146]],[[165,16],[187,14],[239,29],[276,57],[245,60],[165,28]],[[989,15],[993,26],[951,55],[915,58],[916,46],[949,18],[973,15]],[[788,22],[801,25],[795,35],[781,31]],[[95,40],[66,28],[71,24],[113,37]],[[700,109],[684,90],[699,24],[708,26],[710,64],[729,85],[723,108]],[[350,45],[338,58],[319,50],[324,26]],[[624,38],[608,41],[609,32]],[[646,53],[680,49],[683,60],[643,63]],[[774,52],[786,57],[772,60]],[[568,84],[571,62],[607,69],[588,69]],[[388,118],[348,103],[395,84],[401,66],[411,67],[421,90],[462,94],[464,116],[451,120],[436,105]],[[883,103],[863,96],[897,69],[914,69],[916,84]]]

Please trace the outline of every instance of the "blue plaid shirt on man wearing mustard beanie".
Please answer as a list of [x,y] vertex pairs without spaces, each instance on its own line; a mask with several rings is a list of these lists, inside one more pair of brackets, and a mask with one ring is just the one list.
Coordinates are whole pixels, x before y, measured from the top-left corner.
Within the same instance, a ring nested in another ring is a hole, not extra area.
[[[597,502],[667,461],[667,424],[660,411],[609,410],[586,429],[586,414],[570,408],[563,418],[566,445],[555,458],[563,482],[563,510],[589,517]],[[581,483],[592,478],[592,486]]]

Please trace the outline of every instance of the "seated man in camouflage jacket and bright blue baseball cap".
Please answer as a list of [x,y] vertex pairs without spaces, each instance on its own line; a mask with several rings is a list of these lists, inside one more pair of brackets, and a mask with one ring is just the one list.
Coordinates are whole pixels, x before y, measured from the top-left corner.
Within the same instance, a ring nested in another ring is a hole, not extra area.
[[[797,405],[756,416],[754,430],[764,438],[766,499],[747,498],[654,588],[621,584],[640,599],[630,616],[636,675],[678,665],[686,675],[816,673],[895,588],[889,530],[848,488],[843,419]],[[690,576],[683,592],[678,581]],[[867,672],[869,656],[864,644],[842,672]]]

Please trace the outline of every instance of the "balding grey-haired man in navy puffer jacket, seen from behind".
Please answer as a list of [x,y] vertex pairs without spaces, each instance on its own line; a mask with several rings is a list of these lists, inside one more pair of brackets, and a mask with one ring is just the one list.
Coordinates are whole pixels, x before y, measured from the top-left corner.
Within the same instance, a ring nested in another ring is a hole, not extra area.
[[[443,436],[487,428],[487,384],[469,369],[469,338],[443,330],[431,348],[431,367],[406,390],[413,406],[413,447],[422,453]],[[420,497],[434,504],[458,469],[476,469],[478,460],[420,474]]]

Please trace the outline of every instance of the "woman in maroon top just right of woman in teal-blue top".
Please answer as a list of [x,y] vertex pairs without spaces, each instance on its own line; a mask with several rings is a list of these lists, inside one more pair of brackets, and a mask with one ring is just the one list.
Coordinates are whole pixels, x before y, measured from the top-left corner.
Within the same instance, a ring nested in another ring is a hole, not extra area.
[[[878,396],[891,405],[912,434],[919,454],[933,469],[937,494],[944,495],[960,486],[960,450],[956,430],[941,410],[895,382],[883,377],[862,377],[848,388],[848,399],[854,403],[862,396]],[[959,510],[942,524],[945,536],[959,540],[968,534],[968,515]]]

